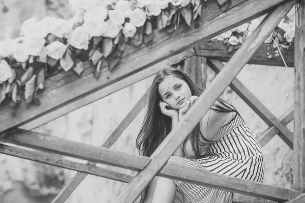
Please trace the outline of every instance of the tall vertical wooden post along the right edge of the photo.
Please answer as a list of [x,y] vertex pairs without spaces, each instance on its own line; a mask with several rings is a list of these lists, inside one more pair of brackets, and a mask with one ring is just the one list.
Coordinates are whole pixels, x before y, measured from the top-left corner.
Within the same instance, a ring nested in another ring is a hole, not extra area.
[[305,191],[305,1],[295,5],[293,187]]

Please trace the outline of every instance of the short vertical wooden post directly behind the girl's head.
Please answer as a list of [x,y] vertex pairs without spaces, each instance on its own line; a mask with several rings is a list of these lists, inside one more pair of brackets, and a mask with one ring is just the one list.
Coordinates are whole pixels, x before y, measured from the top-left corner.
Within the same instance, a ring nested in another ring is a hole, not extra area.
[[206,58],[201,56],[192,56],[187,58],[182,65],[181,70],[184,71],[196,83],[196,85],[205,90],[206,88]]

